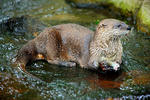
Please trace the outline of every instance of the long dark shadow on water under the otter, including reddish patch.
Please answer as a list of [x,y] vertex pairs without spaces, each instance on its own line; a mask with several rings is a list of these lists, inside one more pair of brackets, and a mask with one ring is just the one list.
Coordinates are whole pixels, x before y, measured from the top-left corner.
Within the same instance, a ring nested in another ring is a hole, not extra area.
[[80,77],[78,81],[86,80],[93,89],[97,87],[103,89],[119,89],[124,78],[126,77],[126,73],[122,72],[122,70],[102,72],[82,69],[79,66],[70,68],[51,65],[45,60],[29,63],[26,69],[34,76],[47,83],[51,83],[53,80],[58,79],[76,80]]

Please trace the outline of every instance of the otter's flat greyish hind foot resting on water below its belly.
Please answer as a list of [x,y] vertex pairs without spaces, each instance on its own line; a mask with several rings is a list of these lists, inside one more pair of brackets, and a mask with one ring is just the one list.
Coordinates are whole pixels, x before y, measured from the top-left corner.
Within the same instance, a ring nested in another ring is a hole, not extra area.
[[48,60],[48,62],[51,64],[61,65],[61,66],[66,66],[66,67],[76,66],[75,62],[66,62],[66,61],[57,61],[57,60]]

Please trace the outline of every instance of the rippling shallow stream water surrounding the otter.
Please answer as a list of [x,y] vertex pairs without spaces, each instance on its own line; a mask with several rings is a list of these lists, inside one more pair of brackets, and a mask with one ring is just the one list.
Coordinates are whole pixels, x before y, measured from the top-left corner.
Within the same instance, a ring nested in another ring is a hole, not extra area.
[[45,27],[73,22],[95,30],[97,20],[111,17],[130,23],[130,18],[123,19],[119,13],[104,8],[71,8],[63,0],[3,0],[0,7],[0,99],[150,98],[150,36],[136,29],[122,40],[122,71],[117,73],[102,74],[37,61],[26,69],[38,80],[12,65],[17,50]]

